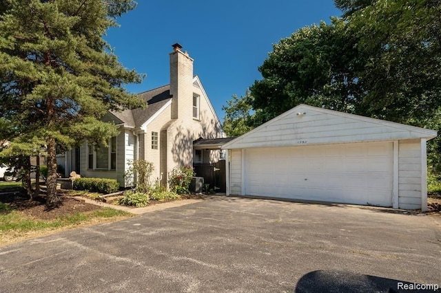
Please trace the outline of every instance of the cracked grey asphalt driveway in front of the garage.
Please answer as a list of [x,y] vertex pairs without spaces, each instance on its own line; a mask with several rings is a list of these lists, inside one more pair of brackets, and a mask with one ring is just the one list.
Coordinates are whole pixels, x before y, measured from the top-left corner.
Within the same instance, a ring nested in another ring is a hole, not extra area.
[[210,197],[2,247],[0,292],[386,292],[399,283],[441,285],[440,224],[437,216],[384,208]]

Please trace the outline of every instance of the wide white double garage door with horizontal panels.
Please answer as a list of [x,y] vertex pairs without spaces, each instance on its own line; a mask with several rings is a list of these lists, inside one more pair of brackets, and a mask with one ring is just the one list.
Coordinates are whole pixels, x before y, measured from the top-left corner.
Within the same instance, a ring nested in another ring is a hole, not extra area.
[[245,194],[392,205],[392,142],[247,149]]

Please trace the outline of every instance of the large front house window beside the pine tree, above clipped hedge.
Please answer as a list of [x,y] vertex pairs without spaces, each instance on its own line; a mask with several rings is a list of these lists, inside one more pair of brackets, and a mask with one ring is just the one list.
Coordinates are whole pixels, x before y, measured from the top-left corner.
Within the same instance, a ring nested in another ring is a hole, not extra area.
[[116,170],[116,137],[108,142],[109,146],[93,147],[88,145],[88,169]]

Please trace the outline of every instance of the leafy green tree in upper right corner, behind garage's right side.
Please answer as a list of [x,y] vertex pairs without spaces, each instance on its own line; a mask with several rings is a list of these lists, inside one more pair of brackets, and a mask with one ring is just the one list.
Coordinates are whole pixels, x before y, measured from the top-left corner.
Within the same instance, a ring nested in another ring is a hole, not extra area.
[[367,115],[420,127],[439,118],[440,12],[440,1],[371,1],[347,17],[369,56],[358,74]]

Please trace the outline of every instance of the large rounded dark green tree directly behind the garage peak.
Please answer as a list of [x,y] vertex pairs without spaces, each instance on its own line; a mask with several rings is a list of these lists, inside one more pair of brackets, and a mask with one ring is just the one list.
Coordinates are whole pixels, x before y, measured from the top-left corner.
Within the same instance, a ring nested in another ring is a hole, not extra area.
[[357,75],[363,66],[357,41],[338,18],[281,39],[259,67],[263,80],[251,87],[255,126],[300,103],[358,111],[364,89]]

